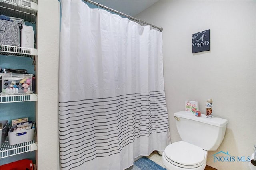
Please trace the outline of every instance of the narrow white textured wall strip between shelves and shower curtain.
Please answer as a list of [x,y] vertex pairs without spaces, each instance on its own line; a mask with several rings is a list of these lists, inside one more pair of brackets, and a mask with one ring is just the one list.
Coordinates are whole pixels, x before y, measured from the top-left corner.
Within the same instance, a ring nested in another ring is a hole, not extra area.
[[58,145],[58,0],[39,0],[37,16],[37,169],[59,169]]

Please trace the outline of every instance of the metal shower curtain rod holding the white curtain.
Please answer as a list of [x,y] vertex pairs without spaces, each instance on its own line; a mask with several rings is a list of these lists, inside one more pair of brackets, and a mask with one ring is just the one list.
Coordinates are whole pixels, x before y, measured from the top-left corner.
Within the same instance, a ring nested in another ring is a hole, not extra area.
[[147,22],[145,22],[145,21],[142,21],[142,20],[140,20],[140,19],[134,18],[134,17],[132,17],[132,16],[130,16],[130,15],[124,14],[124,13],[119,12],[119,11],[117,11],[117,10],[113,10],[112,8],[109,8],[109,7],[107,7],[107,6],[101,5],[101,4],[99,4],[99,3],[97,3],[97,2],[94,2],[94,1],[92,1],[92,0],[84,0],[84,1],[85,1],[85,2],[89,2],[89,3],[91,3],[91,4],[94,4],[94,5],[97,5],[98,7],[104,8],[104,9],[106,9],[106,10],[109,10],[110,13],[111,13],[111,12],[115,12],[115,13],[121,15],[121,16],[126,16],[126,17],[129,18],[130,20],[132,19],[132,20],[137,21],[137,22],[140,22],[140,23],[142,23],[142,24],[146,24],[146,25],[152,26],[152,27],[154,27],[154,28],[157,28],[157,29],[160,30],[161,32],[163,31],[163,28],[162,28],[162,27],[154,26],[154,25],[149,24],[149,23],[147,23]]

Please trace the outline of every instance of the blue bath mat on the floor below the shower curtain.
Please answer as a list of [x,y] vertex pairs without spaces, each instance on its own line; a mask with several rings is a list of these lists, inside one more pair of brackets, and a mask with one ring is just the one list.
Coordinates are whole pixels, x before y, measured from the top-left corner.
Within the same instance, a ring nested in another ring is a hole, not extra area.
[[134,162],[134,165],[127,170],[166,170],[162,166],[156,164],[152,160],[143,156]]

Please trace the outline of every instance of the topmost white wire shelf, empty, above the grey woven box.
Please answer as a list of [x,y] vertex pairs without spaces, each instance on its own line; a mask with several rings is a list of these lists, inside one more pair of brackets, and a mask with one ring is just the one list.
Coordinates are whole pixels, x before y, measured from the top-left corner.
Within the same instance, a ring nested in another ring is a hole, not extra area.
[[38,4],[27,0],[0,0],[1,14],[36,23]]

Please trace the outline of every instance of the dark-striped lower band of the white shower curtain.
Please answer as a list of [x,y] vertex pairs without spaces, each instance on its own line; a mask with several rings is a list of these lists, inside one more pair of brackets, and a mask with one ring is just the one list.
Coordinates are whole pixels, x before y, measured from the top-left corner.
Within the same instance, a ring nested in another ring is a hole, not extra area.
[[83,164],[110,156],[119,153],[135,138],[168,130],[164,91],[59,102],[63,168],[71,166],[71,160],[78,157],[83,158],[80,162]]

